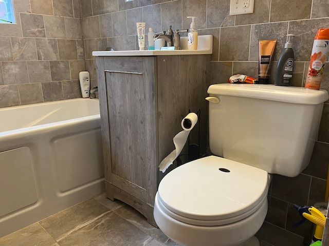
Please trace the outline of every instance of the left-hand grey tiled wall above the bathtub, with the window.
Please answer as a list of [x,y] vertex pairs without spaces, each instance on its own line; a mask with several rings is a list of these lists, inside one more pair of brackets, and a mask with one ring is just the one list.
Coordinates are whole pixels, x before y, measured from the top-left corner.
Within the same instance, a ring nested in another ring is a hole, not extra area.
[[81,97],[80,1],[15,0],[0,24],[0,108]]

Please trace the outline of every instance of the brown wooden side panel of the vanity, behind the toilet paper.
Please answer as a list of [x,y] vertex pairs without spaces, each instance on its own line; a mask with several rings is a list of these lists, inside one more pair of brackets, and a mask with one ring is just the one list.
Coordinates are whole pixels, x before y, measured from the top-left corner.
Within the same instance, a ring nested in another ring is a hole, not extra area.
[[[205,98],[209,62],[208,55],[158,56],[159,163],[170,153],[168,150],[173,150],[173,138],[182,131],[180,123],[189,110],[194,113],[200,110],[189,144],[199,145],[200,153],[206,153],[208,102]],[[187,148],[182,151],[187,152]],[[173,165],[169,171],[172,168]],[[159,176],[161,179],[162,173]]]

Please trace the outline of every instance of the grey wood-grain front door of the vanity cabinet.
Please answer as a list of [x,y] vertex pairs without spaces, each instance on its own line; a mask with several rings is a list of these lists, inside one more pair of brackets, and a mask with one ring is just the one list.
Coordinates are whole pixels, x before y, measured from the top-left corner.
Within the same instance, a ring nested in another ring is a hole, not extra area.
[[109,181],[118,188],[126,186],[127,192],[148,202],[145,191],[156,162],[152,154],[156,150],[154,58],[111,61],[104,63],[111,145],[111,170],[107,172],[116,175]]

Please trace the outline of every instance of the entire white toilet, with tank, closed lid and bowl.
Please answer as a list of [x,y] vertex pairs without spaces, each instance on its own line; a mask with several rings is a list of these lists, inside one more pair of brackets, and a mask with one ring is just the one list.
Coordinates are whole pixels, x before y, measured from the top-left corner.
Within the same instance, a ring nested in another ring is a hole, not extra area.
[[208,88],[212,156],[185,163],[159,183],[154,219],[186,246],[256,246],[271,174],[308,165],[325,90],[218,84]]

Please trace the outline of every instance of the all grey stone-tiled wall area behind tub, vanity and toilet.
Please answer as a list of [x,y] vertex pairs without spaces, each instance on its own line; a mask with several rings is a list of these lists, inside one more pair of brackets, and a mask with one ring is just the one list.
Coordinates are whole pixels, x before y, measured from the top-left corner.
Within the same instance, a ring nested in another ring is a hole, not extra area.
[[[187,29],[186,17],[190,15],[197,17],[199,35],[214,37],[209,85],[226,83],[229,76],[237,73],[257,77],[260,39],[278,40],[271,73],[273,84],[276,63],[289,33],[296,35],[292,85],[303,87],[314,36],[319,28],[329,28],[329,2],[255,0],[253,14],[237,16],[229,15],[229,2],[15,0],[19,24],[0,25],[0,107],[77,96],[78,71],[89,71],[92,85],[97,85],[92,51],[106,47],[138,49],[136,22],[145,22],[147,30],[152,27],[156,32],[167,30],[169,25],[172,29]],[[329,65],[326,66],[321,89],[329,91]],[[280,127],[284,124],[283,119]],[[300,220],[293,204],[311,206],[324,201],[328,162],[327,101],[308,168],[295,178],[273,175],[268,215],[258,237],[275,246],[303,245],[312,224],[292,226]]]

